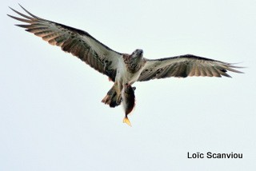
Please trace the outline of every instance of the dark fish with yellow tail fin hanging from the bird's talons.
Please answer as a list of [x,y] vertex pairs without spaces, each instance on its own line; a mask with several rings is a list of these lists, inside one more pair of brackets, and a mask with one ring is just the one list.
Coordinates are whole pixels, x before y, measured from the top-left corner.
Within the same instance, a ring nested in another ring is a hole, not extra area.
[[135,106],[135,95],[134,90],[136,87],[132,87],[131,85],[125,85],[122,89],[122,106],[125,109],[126,116],[123,118],[123,123],[130,125],[130,120],[128,118],[128,114],[134,109]]

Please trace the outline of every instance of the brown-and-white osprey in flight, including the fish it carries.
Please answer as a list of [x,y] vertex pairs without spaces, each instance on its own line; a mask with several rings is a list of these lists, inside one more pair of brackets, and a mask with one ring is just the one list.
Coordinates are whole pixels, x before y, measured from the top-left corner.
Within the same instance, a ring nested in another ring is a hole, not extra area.
[[[22,6],[21,6],[22,7]],[[192,54],[185,54],[171,58],[147,59],[143,57],[143,50],[134,50],[131,54],[123,54],[110,49],[86,31],[65,26],[57,22],[39,18],[25,8],[25,15],[13,10],[23,18],[14,17],[25,25],[26,31],[41,37],[50,45],[60,46],[63,51],[73,54],[86,62],[89,66],[105,74],[114,85],[102,99],[110,107],[123,104],[126,117],[123,122],[130,125],[127,115],[134,109],[134,82],[145,82],[159,78],[186,78],[188,76],[230,77],[227,71],[242,73],[230,63],[202,58]]]

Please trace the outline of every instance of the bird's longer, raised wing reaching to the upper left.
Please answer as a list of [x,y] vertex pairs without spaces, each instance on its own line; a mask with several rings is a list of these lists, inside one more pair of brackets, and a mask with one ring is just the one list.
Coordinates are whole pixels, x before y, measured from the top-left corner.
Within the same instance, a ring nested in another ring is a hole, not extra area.
[[22,14],[17,10],[14,12],[23,18],[8,14],[11,18],[28,23],[16,26],[26,28],[26,31],[41,37],[53,46],[60,46],[62,50],[80,58],[100,73],[106,74],[112,81],[115,80],[118,58],[121,58],[122,54],[103,45],[86,31],[39,18],[25,8],[22,7],[22,9],[29,15]]

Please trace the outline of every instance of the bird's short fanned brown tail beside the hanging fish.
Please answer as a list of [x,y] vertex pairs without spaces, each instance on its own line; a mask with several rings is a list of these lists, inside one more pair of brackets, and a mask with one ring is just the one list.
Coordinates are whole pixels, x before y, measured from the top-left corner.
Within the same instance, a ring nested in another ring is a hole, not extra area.
[[118,95],[115,86],[117,85],[113,85],[112,88],[106,93],[106,96],[102,99],[102,103],[110,105],[110,107],[115,107],[121,104],[121,101],[118,102]]

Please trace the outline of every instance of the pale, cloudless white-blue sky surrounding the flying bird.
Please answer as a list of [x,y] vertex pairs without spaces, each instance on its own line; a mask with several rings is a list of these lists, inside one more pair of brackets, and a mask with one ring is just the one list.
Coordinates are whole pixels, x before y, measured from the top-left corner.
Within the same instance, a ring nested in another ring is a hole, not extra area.
[[[242,62],[233,78],[138,82],[133,127],[100,101],[112,83],[14,26],[8,6],[146,58]],[[2,1],[0,170],[255,170],[256,1]],[[243,159],[188,159],[190,153]]]

